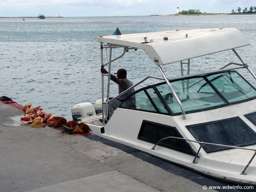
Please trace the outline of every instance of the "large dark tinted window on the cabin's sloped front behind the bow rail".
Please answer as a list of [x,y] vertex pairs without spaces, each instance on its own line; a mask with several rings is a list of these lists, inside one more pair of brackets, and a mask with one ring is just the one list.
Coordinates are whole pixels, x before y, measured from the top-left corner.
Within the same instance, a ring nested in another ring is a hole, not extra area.
[[[240,117],[186,125],[186,128],[199,142],[238,147],[256,144],[255,132]],[[203,145],[203,149],[209,153],[230,148]]]

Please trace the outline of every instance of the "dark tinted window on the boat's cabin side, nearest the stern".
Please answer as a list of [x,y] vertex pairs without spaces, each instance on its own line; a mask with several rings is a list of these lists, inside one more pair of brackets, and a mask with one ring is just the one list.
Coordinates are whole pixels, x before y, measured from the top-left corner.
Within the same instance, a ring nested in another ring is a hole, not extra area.
[[[138,139],[156,144],[160,139],[166,137],[183,138],[175,127],[143,120]],[[169,138],[161,141],[158,145],[188,154],[195,154],[188,143],[181,139]]]

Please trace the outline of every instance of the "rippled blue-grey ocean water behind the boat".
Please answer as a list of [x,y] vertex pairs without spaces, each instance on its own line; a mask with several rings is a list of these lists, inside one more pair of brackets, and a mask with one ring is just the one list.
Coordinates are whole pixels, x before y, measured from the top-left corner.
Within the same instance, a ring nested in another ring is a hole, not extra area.
[[[19,104],[41,106],[46,113],[72,120],[71,108],[101,98],[99,35],[199,28],[238,28],[251,45],[236,49],[256,73],[256,15],[214,16],[129,16],[70,18],[0,18],[0,96]],[[113,55],[119,55],[114,50]],[[104,54],[106,54],[104,52]],[[113,56],[113,57],[114,57]],[[190,73],[214,70],[228,62],[240,62],[232,51],[191,59]],[[125,68],[133,83],[147,75],[158,75],[158,68],[144,51],[129,51],[112,63],[117,71]],[[180,63],[162,67],[168,77],[180,74]],[[248,72],[243,75],[255,85]],[[148,80],[137,89],[157,83]],[[117,86],[111,83],[111,95]]]

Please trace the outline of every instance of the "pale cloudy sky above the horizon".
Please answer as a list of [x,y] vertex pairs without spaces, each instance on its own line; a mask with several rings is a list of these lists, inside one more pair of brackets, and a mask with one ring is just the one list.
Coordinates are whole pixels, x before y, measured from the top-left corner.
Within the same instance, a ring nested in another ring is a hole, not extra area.
[[0,0],[0,17],[37,16],[141,16],[175,14],[200,9],[207,13],[231,13],[239,6],[249,10],[255,0]]

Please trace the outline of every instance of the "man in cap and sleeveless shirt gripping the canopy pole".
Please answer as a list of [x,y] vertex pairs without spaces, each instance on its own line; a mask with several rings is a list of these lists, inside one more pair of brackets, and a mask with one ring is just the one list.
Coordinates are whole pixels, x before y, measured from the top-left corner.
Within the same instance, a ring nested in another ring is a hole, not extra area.
[[[100,72],[103,73],[103,74],[108,74],[109,73],[104,68],[101,68]],[[117,77],[115,75],[113,75],[113,74],[110,74],[110,79],[113,82],[115,82],[116,84],[118,84],[118,94],[124,92],[126,89],[130,88],[131,86],[133,86],[131,81],[126,78],[127,72],[126,72],[125,69],[119,69],[114,74],[117,75]],[[134,88],[132,88],[131,90],[129,90],[125,94],[121,95],[118,99],[116,99],[116,100],[112,101],[111,103],[109,103],[108,119],[111,118],[111,116],[114,113],[114,110],[116,110],[121,105],[123,100],[125,98],[127,98],[130,94],[132,94],[133,92],[134,92]],[[127,105],[130,105],[130,106],[136,105],[135,98],[133,97],[133,98],[129,99]]]

